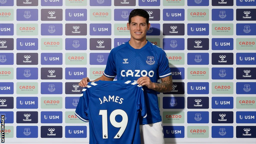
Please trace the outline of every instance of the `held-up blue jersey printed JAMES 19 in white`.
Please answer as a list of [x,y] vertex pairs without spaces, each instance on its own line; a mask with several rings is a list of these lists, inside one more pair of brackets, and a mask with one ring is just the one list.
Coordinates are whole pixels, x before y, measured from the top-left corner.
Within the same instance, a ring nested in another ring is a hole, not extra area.
[[90,144],[140,144],[139,115],[147,116],[143,88],[134,81],[89,82],[75,115],[89,121]]

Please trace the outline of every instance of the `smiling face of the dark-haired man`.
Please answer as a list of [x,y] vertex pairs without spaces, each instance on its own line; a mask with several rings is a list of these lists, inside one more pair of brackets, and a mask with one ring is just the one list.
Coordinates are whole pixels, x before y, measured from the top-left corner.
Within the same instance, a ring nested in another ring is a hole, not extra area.
[[146,24],[146,18],[142,16],[134,16],[131,18],[131,23],[127,23],[127,28],[130,30],[131,40],[144,41],[146,40],[146,32],[149,30],[150,23]]

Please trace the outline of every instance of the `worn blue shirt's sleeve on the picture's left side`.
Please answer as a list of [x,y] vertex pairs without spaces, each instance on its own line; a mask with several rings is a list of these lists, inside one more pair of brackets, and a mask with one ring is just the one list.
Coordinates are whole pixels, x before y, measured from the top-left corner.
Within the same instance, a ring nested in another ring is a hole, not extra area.
[[114,78],[117,75],[113,50],[110,51],[110,55],[107,58],[107,65],[103,74],[108,78]]

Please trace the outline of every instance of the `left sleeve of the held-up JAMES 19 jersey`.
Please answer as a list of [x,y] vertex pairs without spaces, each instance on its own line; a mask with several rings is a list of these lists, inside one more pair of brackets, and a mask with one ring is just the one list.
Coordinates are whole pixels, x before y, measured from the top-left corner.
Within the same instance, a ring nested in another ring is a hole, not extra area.
[[89,92],[87,88],[82,89],[82,93],[75,109],[75,115],[79,117],[82,121],[88,122],[89,117],[87,114],[87,109],[89,107]]

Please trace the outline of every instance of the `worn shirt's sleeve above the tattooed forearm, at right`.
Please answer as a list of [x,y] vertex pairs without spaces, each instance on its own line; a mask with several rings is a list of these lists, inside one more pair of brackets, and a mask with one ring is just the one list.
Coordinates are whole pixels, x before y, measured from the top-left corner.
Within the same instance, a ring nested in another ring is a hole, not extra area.
[[161,50],[159,55],[159,67],[158,67],[158,75],[159,78],[164,78],[171,75],[171,69],[169,67],[169,62],[166,57],[166,53],[164,50]]

